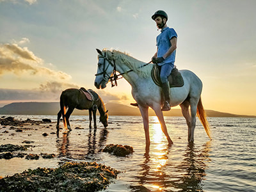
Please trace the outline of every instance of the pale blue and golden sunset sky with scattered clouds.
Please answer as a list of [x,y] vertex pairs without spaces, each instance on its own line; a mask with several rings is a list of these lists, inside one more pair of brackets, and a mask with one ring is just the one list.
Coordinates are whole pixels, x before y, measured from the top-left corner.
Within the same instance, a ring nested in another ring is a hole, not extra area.
[[58,101],[66,88],[92,88],[105,103],[133,102],[131,86],[97,90],[98,49],[148,62],[156,10],[178,34],[177,68],[200,77],[205,109],[256,115],[256,1],[0,0],[0,107]]

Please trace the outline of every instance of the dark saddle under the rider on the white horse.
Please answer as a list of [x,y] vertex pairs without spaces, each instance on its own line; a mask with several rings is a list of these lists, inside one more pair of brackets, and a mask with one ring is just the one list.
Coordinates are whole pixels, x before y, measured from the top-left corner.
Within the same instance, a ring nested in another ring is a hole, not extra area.
[[[160,79],[160,67],[158,65],[154,65],[151,71],[151,76],[158,86],[161,86],[161,79]],[[176,66],[173,68],[171,75],[168,77],[170,87],[177,87],[177,86],[183,86],[184,80],[181,76],[179,70],[176,68]]]

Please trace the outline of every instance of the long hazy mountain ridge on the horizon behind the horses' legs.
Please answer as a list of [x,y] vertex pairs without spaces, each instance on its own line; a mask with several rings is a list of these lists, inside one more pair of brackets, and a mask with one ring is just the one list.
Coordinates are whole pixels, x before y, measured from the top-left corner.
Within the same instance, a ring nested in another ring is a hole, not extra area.
[[[140,115],[138,108],[125,106],[123,104],[108,103],[106,104],[106,109],[109,110],[109,115]],[[0,108],[1,115],[57,115],[58,111],[60,111],[59,102],[13,102]],[[212,110],[205,110],[205,112],[207,116],[256,117],[222,113]],[[88,110],[75,109],[72,115],[88,115]],[[152,109],[149,110],[149,115],[155,115]],[[171,111],[164,112],[164,116],[182,116],[182,113],[180,109],[172,109]]]

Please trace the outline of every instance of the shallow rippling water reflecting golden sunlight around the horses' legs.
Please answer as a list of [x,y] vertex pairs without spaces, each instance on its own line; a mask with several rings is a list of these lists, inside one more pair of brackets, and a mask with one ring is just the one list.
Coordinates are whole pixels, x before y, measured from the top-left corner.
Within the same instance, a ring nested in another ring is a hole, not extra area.
[[[56,116],[15,115],[15,118],[40,120]],[[150,116],[151,145],[145,148],[141,116],[110,116],[104,129],[88,128],[88,116],[71,116],[72,131],[50,134],[55,124],[40,129],[2,133],[0,144],[24,145],[35,141],[29,152],[54,153],[55,159],[0,159],[0,176],[28,170],[28,168],[57,167],[64,161],[97,161],[122,171],[106,191],[256,191],[256,118],[208,118],[212,141],[204,127],[196,123],[195,142],[189,144],[188,129],[183,117],[165,117],[172,147],[161,131],[156,116]],[[62,125],[62,124],[61,124]],[[81,129],[74,129],[79,127]],[[49,135],[44,137],[42,134]],[[14,135],[11,135],[15,133]],[[64,133],[64,134],[63,134]],[[131,145],[134,153],[116,157],[101,152],[107,144]]]

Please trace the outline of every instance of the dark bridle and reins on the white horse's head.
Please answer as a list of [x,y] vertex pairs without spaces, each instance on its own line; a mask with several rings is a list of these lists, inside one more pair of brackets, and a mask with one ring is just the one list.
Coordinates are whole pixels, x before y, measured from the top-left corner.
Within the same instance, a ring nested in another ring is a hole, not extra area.
[[[98,74],[95,74],[95,76],[100,76],[100,75],[103,75],[103,79],[106,81],[106,79],[110,79],[111,81],[111,87],[113,86],[117,86],[117,80],[118,79],[122,79],[123,77],[118,77],[118,76],[122,76],[124,74],[127,74],[129,72],[132,72],[133,70],[130,69],[130,70],[127,70],[126,72],[123,72],[122,74],[118,74],[116,75],[116,63],[115,63],[115,60],[113,60],[113,63],[111,62],[111,60],[109,60],[107,57],[106,57],[106,52],[104,52],[104,55],[102,53],[102,51],[100,51],[99,49],[96,49],[97,52],[100,54],[99,58],[104,58],[104,62],[103,62],[103,71],[98,73]],[[106,65],[106,60],[108,61],[108,66],[105,68],[105,65]],[[146,65],[148,65],[149,63],[151,63],[152,61],[146,63],[145,65],[142,65],[141,67],[145,67]],[[111,65],[113,67],[113,73],[112,73],[112,76],[109,76],[108,73],[107,73],[107,70],[108,70],[108,67],[109,65]],[[138,68],[141,68],[141,67],[138,67]],[[106,77],[107,76],[107,77]]]

